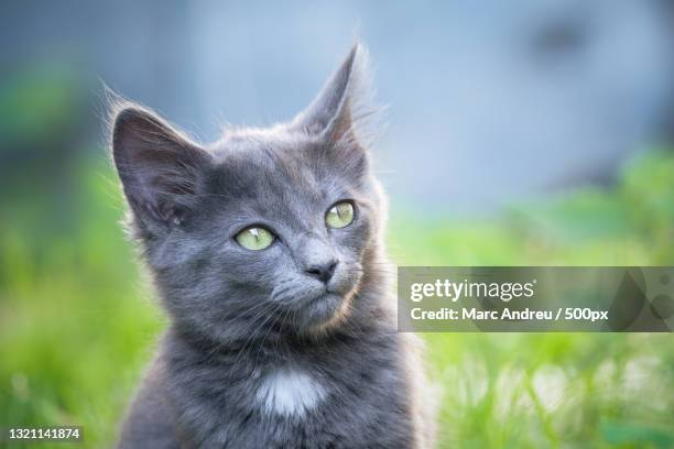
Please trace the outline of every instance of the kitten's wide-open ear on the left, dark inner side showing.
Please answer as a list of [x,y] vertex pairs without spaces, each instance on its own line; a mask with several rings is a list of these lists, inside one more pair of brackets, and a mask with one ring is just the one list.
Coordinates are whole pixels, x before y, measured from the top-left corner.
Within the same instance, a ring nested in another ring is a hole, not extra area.
[[195,201],[209,154],[153,112],[115,113],[112,157],[137,225],[154,233],[180,225]]

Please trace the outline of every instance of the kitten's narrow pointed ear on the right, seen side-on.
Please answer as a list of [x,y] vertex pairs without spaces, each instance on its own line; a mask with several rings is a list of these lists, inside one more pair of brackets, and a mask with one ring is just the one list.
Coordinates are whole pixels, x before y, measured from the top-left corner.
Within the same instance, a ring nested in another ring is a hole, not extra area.
[[291,123],[328,141],[348,140],[367,146],[380,112],[372,101],[368,51],[356,44],[314,101]]

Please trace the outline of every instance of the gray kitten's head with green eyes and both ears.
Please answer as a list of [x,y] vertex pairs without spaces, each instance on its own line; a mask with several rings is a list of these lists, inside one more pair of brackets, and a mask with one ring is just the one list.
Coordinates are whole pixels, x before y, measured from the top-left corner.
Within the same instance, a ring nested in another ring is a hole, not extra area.
[[131,228],[172,318],[218,339],[328,329],[376,270],[383,198],[363,142],[356,46],[294,120],[203,146],[151,111],[116,111]]

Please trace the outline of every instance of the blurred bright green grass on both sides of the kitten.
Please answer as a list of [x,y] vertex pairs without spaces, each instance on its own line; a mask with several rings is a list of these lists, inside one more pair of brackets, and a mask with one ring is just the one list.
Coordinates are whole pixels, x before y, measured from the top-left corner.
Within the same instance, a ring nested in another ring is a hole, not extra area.
[[[0,215],[0,426],[80,425],[110,446],[163,318],[118,225],[105,162]],[[498,218],[394,210],[390,252],[409,265],[674,265],[674,156],[634,158],[610,188],[514,206]],[[441,446],[674,447],[671,335],[424,335],[444,395]],[[42,445],[41,447],[50,447]],[[54,445],[59,448],[61,445]]]

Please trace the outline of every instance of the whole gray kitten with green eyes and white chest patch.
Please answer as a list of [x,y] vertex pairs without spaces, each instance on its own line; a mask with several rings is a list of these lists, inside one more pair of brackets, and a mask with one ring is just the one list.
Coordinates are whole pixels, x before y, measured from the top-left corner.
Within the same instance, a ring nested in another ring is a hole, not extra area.
[[115,109],[130,227],[171,318],[119,447],[431,446],[365,147],[366,58],[356,45],[294,120],[208,146]]

